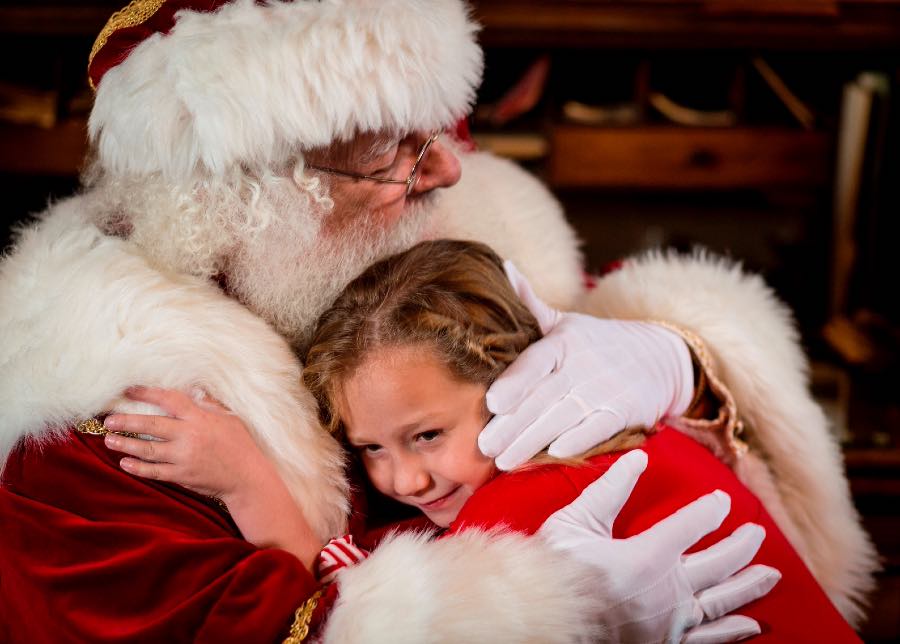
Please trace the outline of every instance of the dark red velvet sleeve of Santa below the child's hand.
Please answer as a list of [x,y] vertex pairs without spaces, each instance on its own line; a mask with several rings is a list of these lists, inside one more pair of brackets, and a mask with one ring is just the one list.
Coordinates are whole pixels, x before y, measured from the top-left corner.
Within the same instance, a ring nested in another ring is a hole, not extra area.
[[19,447],[0,487],[10,641],[283,640],[317,589],[203,497],[131,477],[99,436]]

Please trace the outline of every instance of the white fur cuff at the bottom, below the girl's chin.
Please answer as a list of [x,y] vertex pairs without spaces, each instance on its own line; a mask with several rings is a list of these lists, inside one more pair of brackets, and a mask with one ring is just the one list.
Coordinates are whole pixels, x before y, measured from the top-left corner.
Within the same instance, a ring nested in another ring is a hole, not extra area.
[[[596,575],[596,572],[591,573]],[[596,580],[595,580],[596,581]],[[594,642],[596,584],[539,538],[467,530],[388,539],[339,577],[324,640]]]

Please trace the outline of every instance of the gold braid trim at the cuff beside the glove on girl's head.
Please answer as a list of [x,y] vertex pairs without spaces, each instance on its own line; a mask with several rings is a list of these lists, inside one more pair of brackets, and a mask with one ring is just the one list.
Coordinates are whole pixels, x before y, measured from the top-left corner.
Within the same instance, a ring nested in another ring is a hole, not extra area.
[[724,440],[726,449],[731,456],[740,458],[747,452],[747,445],[738,438],[743,431],[743,423],[738,417],[737,404],[728,387],[725,386],[716,374],[715,364],[706,343],[696,333],[682,327],[661,320],[650,320],[653,324],[665,327],[677,333],[685,341],[691,350],[691,358],[699,368],[699,377],[694,394],[694,400],[688,411],[696,407],[702,400],[706,391],[709,391],[719,401],[719,413],[713,419],[686,418],[678,419],[678,425],[685,429],[698,432],[711,432],[718,434]]

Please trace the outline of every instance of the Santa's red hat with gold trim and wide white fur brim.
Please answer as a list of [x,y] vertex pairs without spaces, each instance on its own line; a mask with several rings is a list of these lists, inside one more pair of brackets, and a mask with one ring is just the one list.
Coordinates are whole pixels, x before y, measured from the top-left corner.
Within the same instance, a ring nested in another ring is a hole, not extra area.
[[135,0],[91,52],[104,169],[266,168],[360,131],[452,125],[481,80],[460,0]]

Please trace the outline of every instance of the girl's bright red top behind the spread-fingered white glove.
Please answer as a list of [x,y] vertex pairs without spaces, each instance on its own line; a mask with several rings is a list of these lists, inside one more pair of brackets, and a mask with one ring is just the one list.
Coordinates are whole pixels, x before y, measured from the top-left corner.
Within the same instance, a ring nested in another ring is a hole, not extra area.
[[[643,449],[649,455],[647,471],[613,526],[616,537],[638,534],[699,496],[724,490],[731,495],[731,513],[718,530],[692,551],[715,543],[748,521],[766,529],[766,539],[753,563],[774,566],[783,577],[768,595],[739,611],[760,623],[762,639],[859,641],[760,501],[730,469],[696,441],[672,429],[650,437]],[[498,476],[472,496],[451,531],[505,525],[532,534],[547,517],[573,501],[603,474],[618,456],[596,457],[583,467],[539,466]]]

